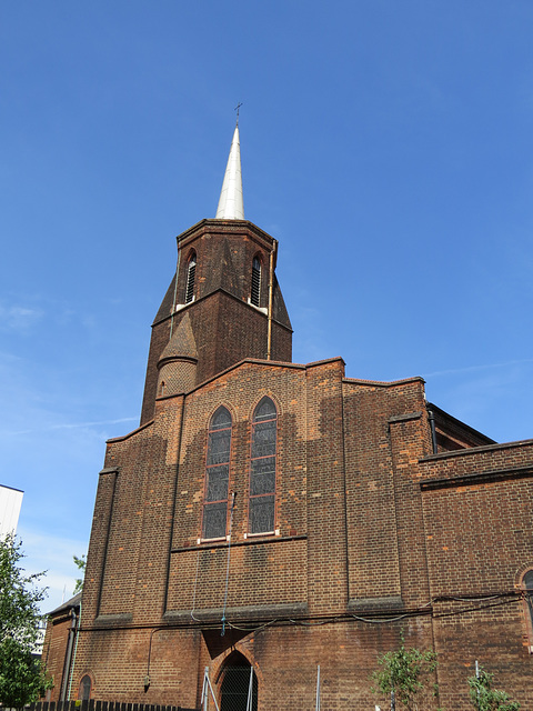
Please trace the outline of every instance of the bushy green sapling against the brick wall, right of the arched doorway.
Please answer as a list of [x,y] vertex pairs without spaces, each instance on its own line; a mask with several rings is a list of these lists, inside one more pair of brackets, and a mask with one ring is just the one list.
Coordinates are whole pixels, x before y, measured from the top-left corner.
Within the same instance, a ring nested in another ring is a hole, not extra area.
[[418,709],[416,695],[425,688],[436,669],[436,654],[433,651],[406,649],[403,632],[400,639],[398,651],[386,652],[378,658],[380,669],[372,674],[376,684],[373,691],[394,699],[396,707],[400,704],[400,708],[414,711]]

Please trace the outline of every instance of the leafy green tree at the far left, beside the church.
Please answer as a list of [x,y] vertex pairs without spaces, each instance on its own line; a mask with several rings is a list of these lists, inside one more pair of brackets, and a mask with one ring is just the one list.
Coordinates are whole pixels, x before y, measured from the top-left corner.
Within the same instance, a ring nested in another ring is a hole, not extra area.
[[52,682],[33,657],[46,589],[37,587],[43,573],[24,575],[22,543],[13,535],[0,539],[0,704],[20,708],[37,701]]

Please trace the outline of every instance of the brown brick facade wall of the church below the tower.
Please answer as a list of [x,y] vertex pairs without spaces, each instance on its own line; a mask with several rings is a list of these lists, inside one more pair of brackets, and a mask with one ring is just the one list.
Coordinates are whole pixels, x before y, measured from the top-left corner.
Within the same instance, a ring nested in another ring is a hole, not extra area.
[[[265,394],[278,409],[276,532],[250,538],[251,419]],[[228,541],[198,542],[208,423],[221,404],[237,492],[228,588]],[[280,698],[310,708],[320,663],[322,703],[363,711],[379,701],[376,657],[403,629],[408,643],[439,652],[446,708],[466,707],[476,659],[531,704],[515,585],[533,565],[533,443],[431,452],[423,381],[346,379],[341,359],[244,361],[158,400],[149,425],[108,444],[76,683],[90,672],[95,698],[193,708],[204,665],[220,689],[239,650],[261,710]]]

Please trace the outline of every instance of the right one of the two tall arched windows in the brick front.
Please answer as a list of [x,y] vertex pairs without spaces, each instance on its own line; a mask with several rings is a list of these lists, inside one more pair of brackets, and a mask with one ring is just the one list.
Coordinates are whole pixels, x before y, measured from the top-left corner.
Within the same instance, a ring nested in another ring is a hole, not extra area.
[[278,411],[272,400],[264,397],[252,418],[250,533],[274,531],[276,438]]

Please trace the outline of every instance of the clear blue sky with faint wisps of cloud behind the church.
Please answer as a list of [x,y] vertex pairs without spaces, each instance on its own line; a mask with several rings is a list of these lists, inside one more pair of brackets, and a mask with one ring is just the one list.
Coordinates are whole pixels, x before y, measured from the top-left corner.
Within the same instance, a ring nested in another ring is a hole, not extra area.
[[294,361],[423,375],[495,440],[533,437],[532,34],[530,0],[1,3],[0,483],[47,609],[239,101]]

